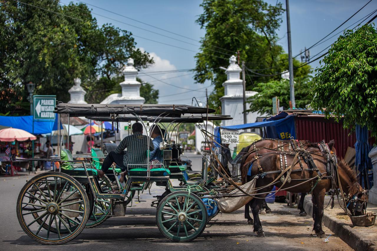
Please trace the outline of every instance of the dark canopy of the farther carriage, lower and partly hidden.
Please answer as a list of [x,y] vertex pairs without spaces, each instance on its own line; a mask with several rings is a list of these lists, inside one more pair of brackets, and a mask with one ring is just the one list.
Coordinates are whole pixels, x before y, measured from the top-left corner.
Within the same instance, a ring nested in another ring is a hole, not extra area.
[[[118,121],[118,122],[128,122],[139,120],[135,115],[132,114],[121,114],[119,116],[86,116],[87,119],[92,119],[94,121]],[[177,122],[177,123],[201,123],[207,120],[229,120],[233,119],[229,115],[212,115],[212,114],[184,114],[180,117],[169,117],[169,116],[139,116],[142,121],[148,122]]]

